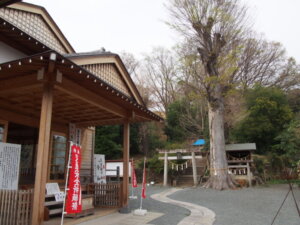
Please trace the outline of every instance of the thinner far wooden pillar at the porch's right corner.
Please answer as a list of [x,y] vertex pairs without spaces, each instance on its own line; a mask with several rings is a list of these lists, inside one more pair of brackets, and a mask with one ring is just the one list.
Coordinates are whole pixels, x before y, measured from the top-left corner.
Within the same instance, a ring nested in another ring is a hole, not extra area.
[[129,185],[129,135],[130,125],[128,122],[124,123],[123,128],[123,207],[128,205],[128,185]]

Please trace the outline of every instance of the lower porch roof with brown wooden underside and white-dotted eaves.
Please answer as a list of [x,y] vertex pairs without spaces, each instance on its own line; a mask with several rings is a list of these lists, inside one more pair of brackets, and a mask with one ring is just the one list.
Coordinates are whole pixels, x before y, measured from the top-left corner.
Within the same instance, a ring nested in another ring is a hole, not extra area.
[[44,78],[49,71],[53,71],[54,129],[63,129],[68,123],[88,127],[162,120],[55,51],[0,64],[0,117],[38,126]]

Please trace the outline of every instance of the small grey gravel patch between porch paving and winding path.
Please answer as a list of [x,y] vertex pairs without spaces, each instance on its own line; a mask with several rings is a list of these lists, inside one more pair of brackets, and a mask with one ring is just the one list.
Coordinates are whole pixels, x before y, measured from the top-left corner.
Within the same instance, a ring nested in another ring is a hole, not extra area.
[[[164,213],[164,216],[161,216],[155,220],[149,222],[149,224],[155,225],[176,225],[179,223],[184,217],[190,215],[190,211],[171,204],[158,202],[150,198],[152,194],[156,194],[166,190],[167,188],[159,187],[159,186],[150,186],[147,187],[147,198],[143,200],[143,209],[147,209],[151,212],[160,212]],[[140,189],[135,190],[135,195],[140,195]],[[131,190],[130,190],[131,194]],[[138,209],[140,207],[140,198],[129,200],[129,210],[132,211],[134,209]]]

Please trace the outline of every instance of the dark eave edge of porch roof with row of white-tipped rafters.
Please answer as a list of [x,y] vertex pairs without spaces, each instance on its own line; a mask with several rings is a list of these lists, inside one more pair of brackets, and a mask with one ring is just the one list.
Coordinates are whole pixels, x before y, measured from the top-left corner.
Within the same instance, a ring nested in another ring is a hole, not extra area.
[[[1,75],[1,71],[3,71],[3,69],[7,69],[7,68],[11,69],[11,68],[13,68],[14,65],[16,65],[16,66],[23,65],[24,62],[32,63],[32,62],[34,62],[34,60],[37,60],[37,61],[45,60],[45,58],[50,57],[51,53],[54,53],[57,55],[56,63],[58,65],[68,66],[69,70],[72,71],[73,73],[78,74],[78,76],[80,76],[81,79],[84,78],[88,82],[90,82],[90,84],[98,85],[97,88],[99,88],[103,91],[106,91],[106,92],[110,92],[112,99],[118,99],[118,100],[122,101],[122,104],[124,106],[126,105],[127,108],[132,108],[133,110],[135,110],[138,113],[141,113],[141,115],[144,115],[148,119],[152,119],[152,120],[156,120],[156,121],[163,121],[163,119],[161,117],[159,117],[155,113],[151,112],[143,105],[138,104],[134,99],[129,98],[128,96],[124,95],[122,92],[118,91],[116,88],[112,87],[111,85],[109,85],[108,83],[106,83],[105,81],[100,79],[99,77],[95,76],[91,72],[85,70],[83,67],[75,64],[70,59],[62,56],[61,54],[59,54],[58,52],[56,52],[54,50],[46,51],[46,52],[43,52],[40,54],[36,54],[36,55],[32,55],[32,56],[25,57],[22,59],[18,59],[18,60],[14,60],[11,62],[6,62],[3,64],[0,64],[0,75]],[[1,76],[0,76],[0,78],[1,78]]]

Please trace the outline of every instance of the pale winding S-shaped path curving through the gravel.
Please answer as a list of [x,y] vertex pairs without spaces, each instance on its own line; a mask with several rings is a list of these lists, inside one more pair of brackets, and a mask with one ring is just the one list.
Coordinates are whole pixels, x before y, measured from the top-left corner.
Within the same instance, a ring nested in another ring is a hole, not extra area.
[[189,216],[185,217],[177,225],[213,225],[216,215],[210,209],[188,202],[173,200],[167,197],[179,190],[180,189],[176,188],[168,189],[161,193],[151,195],[151,198],[160,202],[184,207],[191,212]]

